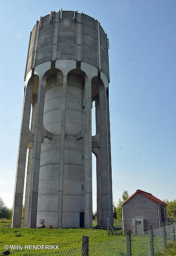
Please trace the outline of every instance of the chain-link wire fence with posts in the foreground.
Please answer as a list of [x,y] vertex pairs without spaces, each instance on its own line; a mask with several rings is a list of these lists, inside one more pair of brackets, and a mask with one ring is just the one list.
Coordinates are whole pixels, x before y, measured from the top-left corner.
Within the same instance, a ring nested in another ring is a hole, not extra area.
[[140,234],[114,236],[113,240],[94,244],[85,244],[82,247],[61,250],[40,256],[155,256],[161,252],[167,243],[176,240],[176,223]]

